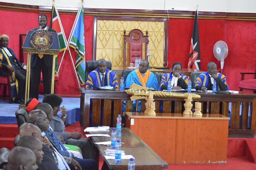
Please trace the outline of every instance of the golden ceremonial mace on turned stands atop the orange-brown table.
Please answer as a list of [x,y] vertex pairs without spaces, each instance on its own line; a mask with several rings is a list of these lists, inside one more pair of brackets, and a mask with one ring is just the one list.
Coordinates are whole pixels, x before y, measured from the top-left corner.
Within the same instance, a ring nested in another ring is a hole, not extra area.
[[[137,100],[137,99],[145,99],[147,102],[145,103],[145,114],[148,115],[156,115],[155,112],[155,102],[154,101],[154,96],[157,97],[179,97],[179,98],[185,98],[185,103],[184,107],[185,110],[183,114],[193,114],[191,109],[193,107],[193,104],[191,102],[193,99],[199,99],[201,98],[200,95],[198,94],[191,94],[191,93],[170,93],[170,92],[161,92],[161,91],[148,91],[148,88],[139,86],[138,84],[133,83],[131,89],[125,90],[125,92],[129,95],[132,95],[131,101]],[[198,102],[199,103],[199,102]],[[201,103],[199,103],[201,104]],[[200,107],[201,108],[201,107]]]

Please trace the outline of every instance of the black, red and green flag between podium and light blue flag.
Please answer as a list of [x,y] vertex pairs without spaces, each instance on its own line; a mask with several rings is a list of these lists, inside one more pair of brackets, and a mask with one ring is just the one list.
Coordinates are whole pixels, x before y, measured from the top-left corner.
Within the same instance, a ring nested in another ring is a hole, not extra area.
[[[50,28],[54,29],[57,32],[58,38],[59,38],[60,51],[64,51],[67,49],[67,45],[64,41],[64,34],[61,29],[62,27],[60,27],[61,26],[60,19],[58,17],[59,15],[57,13],[58,13],[58,11],[57,11],[57,9],[55,9],[55,6],[53,4]],[[58,59],[56,57],[55,58],[55,74],[57,74],[57,72],[58,72]]]

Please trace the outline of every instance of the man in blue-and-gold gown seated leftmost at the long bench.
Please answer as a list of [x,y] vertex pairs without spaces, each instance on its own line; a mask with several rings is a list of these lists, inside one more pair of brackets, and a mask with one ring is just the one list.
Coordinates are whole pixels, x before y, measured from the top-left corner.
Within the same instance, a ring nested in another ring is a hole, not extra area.
[[[86,81],[86,88],[89,88],[87,84],[91,84],[96,87],[112,86],[114,89],[118,89],[118,82],[115,72],[107,68],[106,60],[99,59],[97,62],[97,68],[90,72]],[[90,99],[90,126],[93,119],[93,100]],[[101,125],[103,125],[103,107],[101,107]]]

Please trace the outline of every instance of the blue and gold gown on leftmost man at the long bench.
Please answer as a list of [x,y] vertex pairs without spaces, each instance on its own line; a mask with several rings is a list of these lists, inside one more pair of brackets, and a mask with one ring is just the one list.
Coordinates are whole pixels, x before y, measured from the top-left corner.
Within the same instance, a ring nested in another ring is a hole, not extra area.
[[[117,82],[115,72],[113,72],[107,68],[105,76],[106,76],[106,82],[107,82],[106,86],[112,86],[114,89],[115,88],[118,89],[118,82]],[[96,86],[96,87],[102,87],[100,72],[99,72],[98,68],[96,68],[94,71],[89,73],[86,84],[87,83],[91,84],[93,86]],[[89,87],[89,86],[86,85],[86,87]]]

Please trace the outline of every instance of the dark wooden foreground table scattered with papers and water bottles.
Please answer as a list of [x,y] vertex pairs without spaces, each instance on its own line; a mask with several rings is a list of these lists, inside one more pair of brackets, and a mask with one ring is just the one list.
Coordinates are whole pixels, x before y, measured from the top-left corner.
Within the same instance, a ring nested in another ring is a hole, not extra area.
[[[90,132],[90,134],[109,134],[111,136],[113,128],[110,128],[109,132]],[[93,142],[110,141],[111,137],[90,137]],[[122,128],[121,133],[122,151],[125,151],[125,155],[132,155],[134,163],[136,164],[136,170],[154,170],[154,169],[168,169],[168,164],[158,156],[145,142],[143,142],[138,136],[136,136],[130,129]],[[109,169],[127,170],[129,159],[122,159],[120,163],[115,164],[115,159],[104,158],[105,150],[111,149],[110,146],[94,144],[96,158],[99,163],[99,154],[102,156],[104,163]]]

